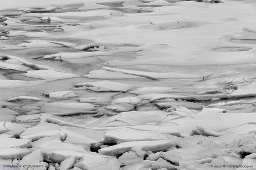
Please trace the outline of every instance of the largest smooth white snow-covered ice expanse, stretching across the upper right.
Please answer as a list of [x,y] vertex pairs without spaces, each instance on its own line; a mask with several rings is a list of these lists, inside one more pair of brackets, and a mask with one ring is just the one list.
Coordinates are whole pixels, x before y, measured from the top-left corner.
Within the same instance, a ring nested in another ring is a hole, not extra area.
[[[211,50],[211,46],[219,42],[219,38],[228,34],[241,32],[240,26],[255,29],[251,24],[254,21],[255,11],[250,4],[232,1],[223,4],[213,5],[198,2],[179,2],[176,6],[166,6],[157,8],[156,12],[127,14],[122,17],[114,17],[104,22],[123,23],[145,21],[166,22],[179,21],[188,22],[189,28],[178,29],[141,29],[138,26],[126,27],[101,27],[97,29],[85,29],[83,26],[63,26],[65,29],[65,37],[68,38],[86,38],[95,39],[102,43],[130,43],[130,44],[169,44],[173,48],[161,49],[161,57],[159,51],[153,53],[140,52],[141,56],[127,64],[135,63],[154,63],[154,64],[214,64],[214,63],[245,63],[252,62],[254,58],[245,52],[215,52]],[[230,10],[227,13],[227,8]],[[244,12],[235,13],[235,9],[243,8]],[[171,11],[171,12],[170,12]],[[187,11],[184,13],[184,11]],[[212,13],[209,11],[213,11]],[[207,16],[204,14],[207,13]],[[215,13],[218,13],[216,15]],[[248,15],[248,13],[250,15]],[[60,13],[48,13],[52,16],[60,16]],[[72,13],[73,14],[73,13]],[[75,16],[85,13],[74,13]],[[93,13],[90,14],[93,16]],[[94,14],[95,16],[96,14]],[[139,15],[139,17],[138,17]],[[247,19],[244,19],[247,16]],[[196,18],[191,21],[191,18]],[[237,22],[223,21],[225,18],[236,18]],[[209,22],[211,21],[211,22]],[[239,23],[239,24],[238,24]],[[214,30],[214,31],[212,31]],[[99,34],[101,36],[99,36]],[[151,36],[149,36],[151,35]],[[166,36],[168,35],[168,36]],[[183,36],[181,36],[183,35]],[[50,34],[48,34],[50,36]],[[54,35],[51,35],[54,37]],[[175,40],[175,41],[174,41]],[[157,57],[156,57],[157,56]],[[171,59],[170,59],[171,56]],[[243,56],[243,57],[241,57]],[[221,62],[220,62],[221,61]]]

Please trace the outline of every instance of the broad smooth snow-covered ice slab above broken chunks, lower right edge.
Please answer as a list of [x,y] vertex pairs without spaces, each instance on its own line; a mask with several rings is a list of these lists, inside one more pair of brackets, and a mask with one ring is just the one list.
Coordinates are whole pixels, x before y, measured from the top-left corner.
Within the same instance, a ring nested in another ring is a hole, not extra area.
[[[225,131],[231,133],[233,131],[229,129],[239,130],[239,126],[256,123],[255,113],[223,113],[222,111],[221,109],[204,108],[203,111],[191,117],[174,119],[168,122],[178,124],[173,128],[185,136],[188,136],[196,126],[219,133],[225,133]],[[244,128],[241,128],[237,133],[248,133],[251,130],[249,128],[248,131],[245,131]]]

